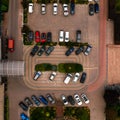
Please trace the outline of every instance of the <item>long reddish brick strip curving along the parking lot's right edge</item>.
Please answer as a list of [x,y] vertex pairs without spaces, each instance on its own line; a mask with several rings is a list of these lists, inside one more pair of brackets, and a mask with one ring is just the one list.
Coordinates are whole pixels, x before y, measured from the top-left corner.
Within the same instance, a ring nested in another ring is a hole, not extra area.
[[100,0],[100,71],[99,77],[94,84],[89,85],[88,92],[92,92],[100,88],[106,80],[106,2]]

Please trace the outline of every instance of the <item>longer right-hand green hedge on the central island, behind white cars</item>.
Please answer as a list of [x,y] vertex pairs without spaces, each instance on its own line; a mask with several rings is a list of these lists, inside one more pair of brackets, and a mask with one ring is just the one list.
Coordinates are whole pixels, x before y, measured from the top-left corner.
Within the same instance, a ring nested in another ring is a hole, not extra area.
[[58,71],[62,73],[82,72],[83,66],[78,63],[60,63],[58,65]]

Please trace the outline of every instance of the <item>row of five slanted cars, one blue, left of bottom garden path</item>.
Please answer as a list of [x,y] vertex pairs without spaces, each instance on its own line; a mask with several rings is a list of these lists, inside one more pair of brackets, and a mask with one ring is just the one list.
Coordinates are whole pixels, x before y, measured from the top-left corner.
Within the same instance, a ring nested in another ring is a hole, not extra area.
[[55,104],[55,99],[51,94],[46,94],[46,97],[43,95],[40,95],[39,97],[36,97],[35,95],[32,95],[31,98],[26,97],[24,101],[21,101],[19,103],[19,106],[24,110],[27,111],[29,107],[33,106],[35,104],[36,106],[40,106],[40,104],[48,105]]

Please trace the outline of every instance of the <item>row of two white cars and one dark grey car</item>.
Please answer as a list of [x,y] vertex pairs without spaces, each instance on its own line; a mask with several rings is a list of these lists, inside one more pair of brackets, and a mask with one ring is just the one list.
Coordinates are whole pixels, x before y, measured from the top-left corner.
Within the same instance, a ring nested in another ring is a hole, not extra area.
[[[65,32],[64,30],[59,31],[59,42],[69,42],[69,32]],[[76,42],[81,42],[81,30],[76,30]]]

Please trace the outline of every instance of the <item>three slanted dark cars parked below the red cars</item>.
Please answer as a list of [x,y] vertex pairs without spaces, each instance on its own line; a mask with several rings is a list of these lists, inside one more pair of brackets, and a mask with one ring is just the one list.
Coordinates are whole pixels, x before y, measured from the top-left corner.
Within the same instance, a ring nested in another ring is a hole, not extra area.
[[32,51],[30,52],[30,55],[31,56],[34,56],[36,53],[38,56],[41,56],[44,52],[45,52],[45,55],[46,56],[49,56],[51,54],[51,52],[54,50],[54,46],[49,46],[47,49],[46,49],[46,46],[42,46],[39,47],[37,45],[35,45],[32,49]]

